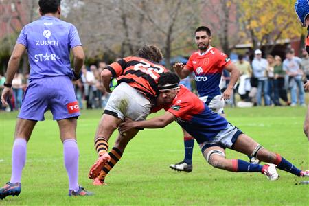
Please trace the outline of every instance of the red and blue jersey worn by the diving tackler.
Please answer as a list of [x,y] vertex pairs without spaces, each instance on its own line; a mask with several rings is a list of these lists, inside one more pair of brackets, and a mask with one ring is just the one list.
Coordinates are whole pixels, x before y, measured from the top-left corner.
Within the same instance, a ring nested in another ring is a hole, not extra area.
[[198,143],[210,141],[227,127],[227,120],[214,113],[194,93],[183,85],[172,104],[165,111],[176,117],[176,122],[192,135]]

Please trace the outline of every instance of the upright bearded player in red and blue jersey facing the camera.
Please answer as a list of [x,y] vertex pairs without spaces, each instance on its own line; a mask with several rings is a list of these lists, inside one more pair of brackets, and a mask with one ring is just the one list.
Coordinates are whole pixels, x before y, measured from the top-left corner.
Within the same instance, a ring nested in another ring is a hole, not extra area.
[[[187,65],[176,63],[174,69],[181,79],[194,72],[196,89],[200,99],[209,106],[211,111],[224,116],[224,100],[231,98],[233,87],[240,73],[226,54],[211,47],[211,31],[208,27],[198,27],[194,34],[198,51],[190,56]],[[231,72],[231,80],[227,85],[227,89],[221,95],[219,84],[223,69]],[[191,172],[194,137],[185,130],[183,130],[183,136],[185,158],[179,163],[170,165],[170,168],[177,171]]]

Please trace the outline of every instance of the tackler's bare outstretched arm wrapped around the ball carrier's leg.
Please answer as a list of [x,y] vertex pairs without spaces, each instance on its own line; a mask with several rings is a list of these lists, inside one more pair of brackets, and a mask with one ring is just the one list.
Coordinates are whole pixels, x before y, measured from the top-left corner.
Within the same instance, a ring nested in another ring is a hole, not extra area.
[[176,117],[168,111],[162,116],[154,117],[145,121],[133,121],[126,118],[125,122],[122,122],[119,125],[119,130],[121,133],[126,133],[133,128],[163,128],[172,123],[175,119]]

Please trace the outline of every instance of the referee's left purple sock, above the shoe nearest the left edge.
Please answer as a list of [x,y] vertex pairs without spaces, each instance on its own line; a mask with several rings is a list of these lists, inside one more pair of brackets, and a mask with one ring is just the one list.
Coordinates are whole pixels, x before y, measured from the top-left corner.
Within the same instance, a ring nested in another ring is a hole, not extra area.
[[12,176],[10,183],[21,182],[21,172],[25,166],[27,155],[27,141],[22,138],[16,138],[12,148]]

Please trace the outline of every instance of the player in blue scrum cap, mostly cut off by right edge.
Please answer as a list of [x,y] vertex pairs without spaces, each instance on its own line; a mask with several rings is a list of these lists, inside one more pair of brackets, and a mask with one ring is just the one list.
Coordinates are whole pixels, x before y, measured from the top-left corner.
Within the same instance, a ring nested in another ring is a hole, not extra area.
[[[303,27],[307,27],[306,51],[309,54],[309,0],[297,0],[295,2],[295,12]],[[309,80],[304,84],[305,91],[309,91]],[[309,140],[309,107],[304,122],[304,133]]]

